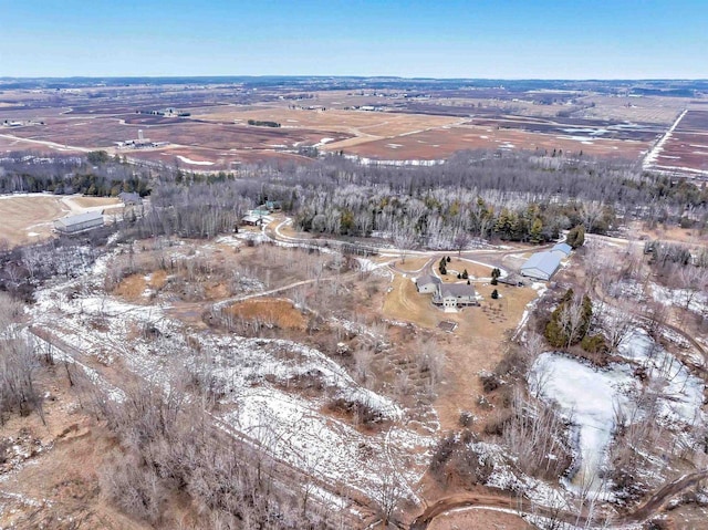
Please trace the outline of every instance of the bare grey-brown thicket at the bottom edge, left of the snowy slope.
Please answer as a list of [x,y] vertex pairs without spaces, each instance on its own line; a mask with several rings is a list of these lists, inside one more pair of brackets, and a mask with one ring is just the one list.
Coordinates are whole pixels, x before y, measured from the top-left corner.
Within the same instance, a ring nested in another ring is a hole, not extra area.
[[170,507],[181,498],[195,528],[324,529],[329,515],[254,445],[223,434],[212,416],[170,385],[143,384],[123,402],[98,396],[100,414],[119,443],[103,468],[101,489],[116,507],[153,526],[184,524]]

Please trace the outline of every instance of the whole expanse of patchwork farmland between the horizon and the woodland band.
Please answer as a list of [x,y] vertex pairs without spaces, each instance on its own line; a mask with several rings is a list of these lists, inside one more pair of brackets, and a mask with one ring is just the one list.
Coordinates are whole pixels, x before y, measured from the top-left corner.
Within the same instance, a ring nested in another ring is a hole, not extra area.
[[[0,152],[105,149],[155,167],[199,172],[233,170],[262,159],[304,162],[313,147],[396,162],[439,160],[460,149],[582,152],[638,160],[684,108],[691,108],[688,124],[705,103],[702,97],[628,96],[626,90],[613,95],[595,92],[593,83],[574,90],[404,86],[342,90],[336,82],[327,87],[299,80],[258,90],[236,82],[0,91],[0,123],[23,124],[0,126]],[[185,115],[156,114],[166,107]],[[249,119],[281,126],[250,126]],[[677,128],[657,163],[705,170],[700,127]],[[138,131],[167,145],[116,147]]]

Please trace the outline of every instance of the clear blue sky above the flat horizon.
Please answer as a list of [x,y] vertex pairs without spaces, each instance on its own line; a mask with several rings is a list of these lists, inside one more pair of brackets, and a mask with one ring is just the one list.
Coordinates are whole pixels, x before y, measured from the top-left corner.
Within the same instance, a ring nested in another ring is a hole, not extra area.
[[708,0],[0,0],[0,76],[707,79]]

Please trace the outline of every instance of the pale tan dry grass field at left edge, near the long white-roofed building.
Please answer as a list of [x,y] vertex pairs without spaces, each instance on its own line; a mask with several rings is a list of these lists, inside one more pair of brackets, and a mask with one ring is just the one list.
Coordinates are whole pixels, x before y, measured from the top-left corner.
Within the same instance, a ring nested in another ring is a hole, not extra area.
[[52,221],[65,212],[56,197],[35,195],[0,198],[0,241],[6,240],[14,247],[46,239],[52,233]]

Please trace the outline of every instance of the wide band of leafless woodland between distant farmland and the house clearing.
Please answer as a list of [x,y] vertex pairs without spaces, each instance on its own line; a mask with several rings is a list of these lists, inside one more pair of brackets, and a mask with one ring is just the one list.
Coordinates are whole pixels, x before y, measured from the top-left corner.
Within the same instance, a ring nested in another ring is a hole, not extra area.
[[[96,152],[90,154],[91,162],[74,156],[42,164],[9,156],[1,163],[0,191],[111,196],[154,189],[163,197],[183,195],[188,202],[166,205],[176,210],[169,225],[198,235],[214,230],[185,228],[185,222],[197,224],[202,215],[228,218],[210,225],[230,230],[237,215],[269,198],[282,202],[299,229],[377,236],[408,248],[462,249],[477,238],[541,243],[574,227],[571,241],[577,246],[582,231],[603,233],[618,219],[678,224],[689,218],[699,230],[708,220],[705,187],[642,174],[628,163],[589,157],[465,152],[445,164],[420,167],[362,165],[332,155],[306,165],[243,165],[237,173],[164,167],[154,174],[106,156]],[[175,189],[195,185],[200,186]],[[233,204],[215,197],[232,198]]]

